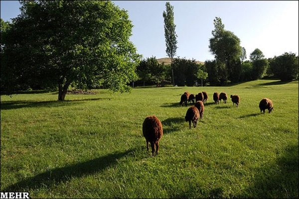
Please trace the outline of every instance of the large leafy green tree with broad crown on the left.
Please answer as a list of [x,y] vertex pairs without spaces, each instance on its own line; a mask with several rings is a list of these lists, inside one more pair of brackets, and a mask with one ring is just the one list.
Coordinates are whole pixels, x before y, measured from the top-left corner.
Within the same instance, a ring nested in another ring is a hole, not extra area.
[[127,84],[137,79],[140,56],[129,40],[133,25],[126,10],[111,1],[20,3],[21,13],[6,31],[1,59],[1,71],[15,71],[6,84],[18,79],[19,84],[58,87],[58,100],[64,100],[75,83],[130,90]]

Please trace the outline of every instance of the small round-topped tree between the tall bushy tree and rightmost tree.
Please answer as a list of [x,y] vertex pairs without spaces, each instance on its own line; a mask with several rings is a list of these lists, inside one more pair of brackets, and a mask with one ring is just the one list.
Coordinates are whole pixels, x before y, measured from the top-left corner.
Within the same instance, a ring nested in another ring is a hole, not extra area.
[[265,59],[265,56],[263,52],[256,48],[251,54],[250,54],[250,60],[252,62],[252,77],[253,80],[261,79],[264,77],[267,67],[268,67],[268,61]]

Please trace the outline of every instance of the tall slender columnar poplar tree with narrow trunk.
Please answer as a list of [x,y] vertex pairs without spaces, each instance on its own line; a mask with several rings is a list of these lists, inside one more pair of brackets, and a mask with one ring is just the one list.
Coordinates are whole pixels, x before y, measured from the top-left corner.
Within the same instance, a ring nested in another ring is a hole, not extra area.
[[174,76],[173,76],[173,57],[176,55],[177,49],[177,40],[176,40],[176,33],[174,24],[174,13],[173,13],[173,6],[170,5],[169,2],[166,2],[166,12],[163,11],[163,18],[164,18],[164,36],[165,36],[165,43],[166,43],[166,53],[167,56],[171,59],[171,72],[172,72],[172,83],[174,84]]

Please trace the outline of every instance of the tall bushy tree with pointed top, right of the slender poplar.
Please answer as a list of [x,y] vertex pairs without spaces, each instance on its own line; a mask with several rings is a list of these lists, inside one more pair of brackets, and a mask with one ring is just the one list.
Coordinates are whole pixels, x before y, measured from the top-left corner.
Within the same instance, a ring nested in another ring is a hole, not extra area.
[[[228,79],[235,81],[236,75],[240,75],[240,65],[237,60],[242,57],[242,47],[240,39],[231,31],[224,29],[224,24],[220,17],[214,19],[215,29],[212,30],[213,37],[210,38],[210,52],[215,56],[217,63],[222,62],[228,73]],[[223,80],[223,82],[227,82]]]

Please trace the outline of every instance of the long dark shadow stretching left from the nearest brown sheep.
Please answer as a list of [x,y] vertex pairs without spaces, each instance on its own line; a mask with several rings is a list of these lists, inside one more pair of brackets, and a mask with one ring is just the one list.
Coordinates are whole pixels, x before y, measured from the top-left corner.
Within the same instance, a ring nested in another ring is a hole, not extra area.
[[3,190],[3,192],[14,192],[20,190],[28,191],[30,189],[36,190],[44,186],[50,187],[61,182],[67,182],[72,178],[80,178],[92,175],[97,172],[101,172],[108,167],[116,165],[118,163],[118,159],[121,159],[127,155],[132,155],[134,154],[134,151],[135,149],[131,149],[125,152],[112,153],[86,162],[52,169],[50,171],[38,174],[32,178],[28,178],[8,186]]

